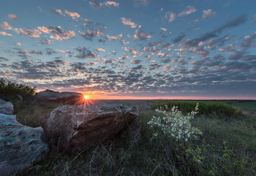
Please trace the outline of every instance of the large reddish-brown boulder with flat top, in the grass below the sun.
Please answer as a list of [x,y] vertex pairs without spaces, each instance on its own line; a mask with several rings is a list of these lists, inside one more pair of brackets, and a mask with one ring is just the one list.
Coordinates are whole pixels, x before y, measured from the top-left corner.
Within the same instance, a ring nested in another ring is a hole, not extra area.
[[138,107],[118,104],[57,107],[45,120],[46,134],[68,153],[85,150],[114,137],[138,117]]

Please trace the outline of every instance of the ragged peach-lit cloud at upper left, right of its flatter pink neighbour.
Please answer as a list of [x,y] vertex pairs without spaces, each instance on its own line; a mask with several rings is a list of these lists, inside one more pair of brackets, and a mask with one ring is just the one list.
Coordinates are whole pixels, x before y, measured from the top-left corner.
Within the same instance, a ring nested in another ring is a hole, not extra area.
[[48,28],[45,26],[37,28],[46,34],[52,34],[50,36],[51,39],[63,40],[75,37],[75,31],[64,31],[64,29],[61,28],[61,26],[57,26],[56,28],[54,28],[53,26],[49,26]]

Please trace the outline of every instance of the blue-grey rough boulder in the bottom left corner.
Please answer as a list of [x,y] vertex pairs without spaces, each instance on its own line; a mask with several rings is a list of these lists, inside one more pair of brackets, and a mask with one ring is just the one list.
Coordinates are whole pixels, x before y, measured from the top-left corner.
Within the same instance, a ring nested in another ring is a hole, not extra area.
[[49,151],[41,127],[18,123],[15,115],[0,113],[0,175],[11,175],[42,160]]

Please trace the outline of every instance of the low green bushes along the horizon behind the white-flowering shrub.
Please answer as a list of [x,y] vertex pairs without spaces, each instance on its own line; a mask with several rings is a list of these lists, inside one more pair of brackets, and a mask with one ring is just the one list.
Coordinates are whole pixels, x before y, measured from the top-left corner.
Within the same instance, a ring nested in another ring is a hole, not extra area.
[[[192,110],[195,110],[196,102],[185,102],[185,101],[163,101],[155,102],[151,105],[152,109],[159,109],[167,105],[168,108],[173,106],[187,114]],[[199,102],[199,111],[197,115],[205,116],[217,116],[219,118],[241,118],[243,113],[236,107],[230,106],[229,104],[217,103],[217,102]]]

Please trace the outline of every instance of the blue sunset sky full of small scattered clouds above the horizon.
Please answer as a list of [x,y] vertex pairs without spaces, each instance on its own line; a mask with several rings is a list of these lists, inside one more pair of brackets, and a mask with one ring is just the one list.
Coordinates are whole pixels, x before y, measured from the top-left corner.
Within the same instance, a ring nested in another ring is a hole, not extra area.
[[256,99],[255,0],[4,0],[0,77],[91,99]]

